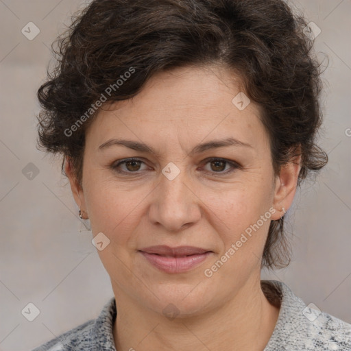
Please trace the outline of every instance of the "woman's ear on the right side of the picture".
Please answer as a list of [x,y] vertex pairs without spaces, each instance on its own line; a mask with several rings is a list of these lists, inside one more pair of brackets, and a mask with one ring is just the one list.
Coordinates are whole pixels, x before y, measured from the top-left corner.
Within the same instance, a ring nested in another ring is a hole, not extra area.
[[274,208],[276,213],[271,219],[278,220],[285,213],[282,208],[287,211],[293,203],[298,186],[298,176],[301,169],[301,152],[298,147],[295,156],[291,157],[286,165],[282,165],[279,175],[276,176],[276,188],[274,190]]

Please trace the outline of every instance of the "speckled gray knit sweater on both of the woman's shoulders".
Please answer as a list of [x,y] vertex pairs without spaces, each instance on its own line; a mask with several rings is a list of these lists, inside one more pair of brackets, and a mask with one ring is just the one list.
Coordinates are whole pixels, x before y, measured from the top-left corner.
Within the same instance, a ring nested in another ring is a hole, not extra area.
[[[268,300],[280,304],[271,339],[263,351],[351,351],[351,324],[306,306],[278,280],[261,280]],[[267,293],[268,292],[268,293]],[[77,326],[33,351],[116,351],[112,326],[116,317],[114,298],[97,319]]]

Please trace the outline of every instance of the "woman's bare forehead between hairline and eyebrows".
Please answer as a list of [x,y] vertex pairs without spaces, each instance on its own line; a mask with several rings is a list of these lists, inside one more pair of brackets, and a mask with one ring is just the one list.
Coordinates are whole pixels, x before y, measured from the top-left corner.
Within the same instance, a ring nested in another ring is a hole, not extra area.
[[202,141],[226,134],[256,143],[265,134],[261,110],[252,101],[243,110],[238,108],[240,98],[246,99],[241,86],[239,76],[219,67],[191,66],[158,73],[132,99],[101,110],[88,134],[93,134],[96,143],[126,134],[134,139],[147,136],[154,142],[175,141],[175,136]]

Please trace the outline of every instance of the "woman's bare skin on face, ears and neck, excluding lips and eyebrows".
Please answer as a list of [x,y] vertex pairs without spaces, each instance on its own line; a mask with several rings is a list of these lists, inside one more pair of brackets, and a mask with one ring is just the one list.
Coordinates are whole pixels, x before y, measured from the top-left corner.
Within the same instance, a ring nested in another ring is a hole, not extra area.
[[[110,244],[98,251],[117,302],[113,327],[117,350],[263,350],[279,308],[261,290],[261,258],[269,221],[252,234],[210,278],[210,268],[261,215],[274,207],[280,219],[295,195],[300,158],[274,175],[269,138],[260,108],[239,110],[237,75],[219,66],[178,68],[152,77],[133,99],[101,110],[86,131],[82,187],[65,163],[75,202],[93,235]],[[234,145],[190,154],[193,147],[223,138]],[[113,138],[143,142],[156,154],[113,145]],[[110,166],[135,157],[142,162]],[[208,158],[239,163],[213,164]],[[173,162],[180,174],[162,174]],[[134,172],[134,173],[132,173]],[[193,245],[212,250],[206,261],[167,274],[138,252],[151,245]],[[178,315],[168,319],[169,304]]]

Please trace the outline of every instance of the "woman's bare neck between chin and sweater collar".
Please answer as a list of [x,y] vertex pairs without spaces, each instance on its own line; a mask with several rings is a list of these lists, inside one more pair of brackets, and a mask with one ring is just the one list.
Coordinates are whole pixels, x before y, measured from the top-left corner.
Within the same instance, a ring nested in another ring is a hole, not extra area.
[[279,308],[265,298],[260,278],[254,283],[248,281],[215,311],[172,320],[120,292],[115,293],[113,335],[116,349],[123,351],[263,351],[279,314]]

